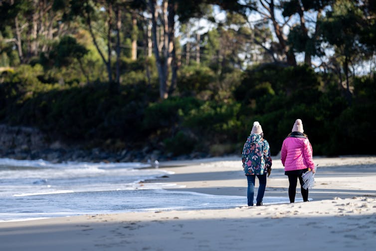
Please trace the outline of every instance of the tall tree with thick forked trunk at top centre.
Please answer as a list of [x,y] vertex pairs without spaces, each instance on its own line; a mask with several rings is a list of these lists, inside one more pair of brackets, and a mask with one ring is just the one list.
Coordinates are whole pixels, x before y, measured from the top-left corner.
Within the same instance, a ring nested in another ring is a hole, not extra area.
[[[152,21],[154,56],[160,83],[160,98],[166,99],[176,88],[178,60],[176,55],[176,18],[185,23],[189,18],[205,14],[207,4],[217,4],[224,9],[237,10],[238,5],[223,0],[142,0],[147,4]],[[161,33],[158,39],[157,32]],[[171,72],[171,84],[168,88]]]

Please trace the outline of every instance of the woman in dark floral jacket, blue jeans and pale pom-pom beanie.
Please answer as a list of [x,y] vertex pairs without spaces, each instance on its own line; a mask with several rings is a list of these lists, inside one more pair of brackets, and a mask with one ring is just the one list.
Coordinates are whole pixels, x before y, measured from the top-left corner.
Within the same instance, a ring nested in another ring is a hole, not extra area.
[[269,143],[263,138],[261,125],[257,121],[253,123],[251,134],[244,144],[241,160],[248,181],[248,206],[253,206],[256,176],[259,181],[256,206],[262,206],[266,187],[266,174],[268,174],[268,177],[270,176],[272,158],[270,157]]

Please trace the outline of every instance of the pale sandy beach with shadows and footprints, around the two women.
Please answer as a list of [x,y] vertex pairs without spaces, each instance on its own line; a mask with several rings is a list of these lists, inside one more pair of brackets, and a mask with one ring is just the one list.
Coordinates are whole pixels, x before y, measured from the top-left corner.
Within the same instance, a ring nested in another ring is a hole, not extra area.
[[[0,250],[375,250],[376,157],[317,157],[314,162],[319,166],[310,202],[1,222]],[[175,190],[244,196],[246,204],[238,157],[160,164],[175,174],[158,182],[184,186]],[[264,198],[288,198],[287,190],[282,164],[273,158]]]

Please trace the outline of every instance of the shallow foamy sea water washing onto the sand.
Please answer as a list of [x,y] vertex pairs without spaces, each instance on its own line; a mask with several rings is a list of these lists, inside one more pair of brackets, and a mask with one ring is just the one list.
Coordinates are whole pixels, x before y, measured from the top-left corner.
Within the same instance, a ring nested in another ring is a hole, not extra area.
[[[165,175],[173,173],[143,163],[54,164],[44,160],[0,159],[0,222],[246,206],[245,196],[173,191],[165,188],[180,187],[143,182]],[[264,198],[264,204],[283,202],[281,198]]]

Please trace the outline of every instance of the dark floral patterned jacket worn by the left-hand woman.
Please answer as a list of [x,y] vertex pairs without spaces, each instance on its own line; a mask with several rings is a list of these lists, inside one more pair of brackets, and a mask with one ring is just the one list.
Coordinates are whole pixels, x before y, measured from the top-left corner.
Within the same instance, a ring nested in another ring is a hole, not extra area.
[[269,143],[259,134],[248,136],[241,154],[245,175],[267,174],[272,167]]

